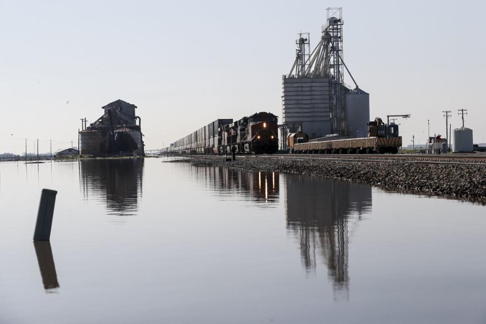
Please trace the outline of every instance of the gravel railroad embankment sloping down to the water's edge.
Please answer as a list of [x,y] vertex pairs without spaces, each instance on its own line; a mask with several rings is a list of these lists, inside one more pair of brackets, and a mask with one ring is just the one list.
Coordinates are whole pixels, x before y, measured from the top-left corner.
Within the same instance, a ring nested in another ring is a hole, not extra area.
[[[420,163],[400,159],[323,159],[246,157],[226,161],[224,157],[198,157],[184,160],[194,166],[221,166],[248,171],[277,171],[309,176],[338,178],[391,189],[473,198],[486,202],[486,164]],[[461,163],[462,162],[462,163]]]

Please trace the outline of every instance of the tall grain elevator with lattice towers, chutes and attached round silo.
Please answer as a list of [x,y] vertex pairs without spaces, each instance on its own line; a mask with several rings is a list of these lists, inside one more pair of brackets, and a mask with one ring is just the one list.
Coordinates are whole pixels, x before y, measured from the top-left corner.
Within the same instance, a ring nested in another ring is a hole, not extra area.
[[[310,51],[309,33],[296,41],[294,65],[282,77],[282,117],[285,132],[299,128],[309,138],[339,134],[366,137],[370,121],[370,96],[358,88],[343,61],[343,18],[341,8],[327,9],[319,43]],[[355,85],[344,83],[344,69]]]

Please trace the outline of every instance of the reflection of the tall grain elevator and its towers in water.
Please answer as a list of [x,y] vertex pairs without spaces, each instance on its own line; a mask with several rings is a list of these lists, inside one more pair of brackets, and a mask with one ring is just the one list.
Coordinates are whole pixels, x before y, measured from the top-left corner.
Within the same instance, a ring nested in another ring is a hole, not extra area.
[[285,186],[287,229],[299,239],[303,266],[314,269],[323,260],[335,294],[348,298],[350,223],[371,211],[371,187],[301,175],[288,175]]

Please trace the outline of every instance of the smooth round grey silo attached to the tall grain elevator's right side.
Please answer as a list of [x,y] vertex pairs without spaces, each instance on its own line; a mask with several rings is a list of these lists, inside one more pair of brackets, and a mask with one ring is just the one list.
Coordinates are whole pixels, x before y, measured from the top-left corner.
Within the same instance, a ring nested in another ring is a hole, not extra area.
[[345,96],[344,113],[346,132],[349,137],[367,137],[370,121],[370,94],[359,88]]

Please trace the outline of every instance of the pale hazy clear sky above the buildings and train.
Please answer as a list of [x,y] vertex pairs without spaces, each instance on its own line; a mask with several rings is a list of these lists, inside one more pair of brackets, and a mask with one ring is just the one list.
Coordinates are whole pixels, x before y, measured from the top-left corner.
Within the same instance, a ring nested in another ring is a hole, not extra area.
[[396,121],[403,144],[423,144],[427,119],[443,135],[442,110],[454,129],[464,108],[486,142],[484,2],[0,0],[0,152],[77,146],[79,119],[116,99],[138,106],[146,150],[217,118],[281,117],[297,33],[314,47],[328,7],[343,8],[344,60],[372,119],[411,114]]

